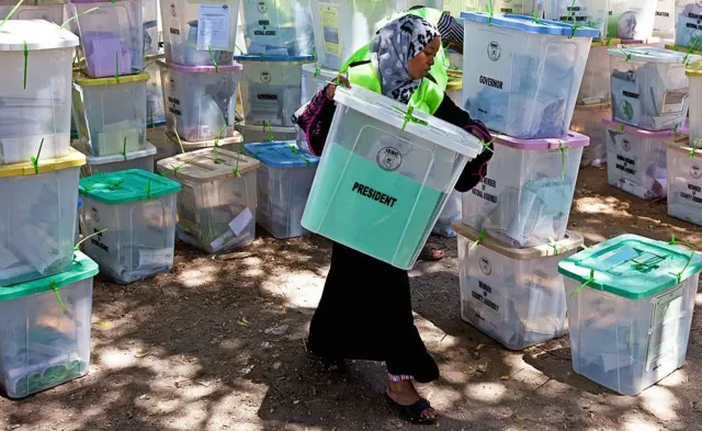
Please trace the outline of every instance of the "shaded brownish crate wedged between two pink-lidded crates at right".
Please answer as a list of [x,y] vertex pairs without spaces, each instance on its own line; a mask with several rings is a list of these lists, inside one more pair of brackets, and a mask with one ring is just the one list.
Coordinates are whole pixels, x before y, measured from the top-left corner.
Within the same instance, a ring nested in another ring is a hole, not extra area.
[[607,163],[607,126],[602,121],[611,114],[609,103],[575,107],[570,129],[590,138],[590,145],[582,148],[581,167]]

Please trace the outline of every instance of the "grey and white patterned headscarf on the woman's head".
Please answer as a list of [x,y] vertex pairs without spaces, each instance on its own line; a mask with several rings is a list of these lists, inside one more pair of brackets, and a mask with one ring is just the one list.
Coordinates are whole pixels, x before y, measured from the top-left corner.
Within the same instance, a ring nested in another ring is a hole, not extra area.
[[421,16],[407,14],[389,22],[371,41],[371,61],[381,78],[381,92],[408,103],[421,79],[412,79],[408,64],[439,36]]

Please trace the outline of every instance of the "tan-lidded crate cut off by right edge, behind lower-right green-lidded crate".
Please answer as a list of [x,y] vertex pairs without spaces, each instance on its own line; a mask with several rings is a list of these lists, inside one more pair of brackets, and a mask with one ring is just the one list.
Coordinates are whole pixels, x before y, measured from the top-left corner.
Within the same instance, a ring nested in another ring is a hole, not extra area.
[[687,140],[666,141],[668,215],[702,226],[702,150]]

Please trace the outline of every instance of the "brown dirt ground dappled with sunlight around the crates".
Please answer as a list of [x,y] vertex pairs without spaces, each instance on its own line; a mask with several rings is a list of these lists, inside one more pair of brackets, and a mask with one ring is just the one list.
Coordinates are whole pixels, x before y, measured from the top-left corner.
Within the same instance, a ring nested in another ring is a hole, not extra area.
[[[580,172],[570,228],[588,243],[635,232],[702,247],[702,228],[666,216]],[[263,232],[259,232],[264,235]],[[638,397],[576,375],[568,338],[510,352],[460,319],[455,239],[441,262],[411,272],[416,322],[441,367],[421,387],[445,431],[702,430],[702,294],[688,362]],[[395,430],[384,368],[329,374],[303,339],[321,294],[329,243],[261,237],[256,256],[213,260],[179,246],[172,273],[129,286],[98,279],[92,365],[76,382],[24,400],[0,397],[0,431]],[[363,318],[363,310],[358,310]]]

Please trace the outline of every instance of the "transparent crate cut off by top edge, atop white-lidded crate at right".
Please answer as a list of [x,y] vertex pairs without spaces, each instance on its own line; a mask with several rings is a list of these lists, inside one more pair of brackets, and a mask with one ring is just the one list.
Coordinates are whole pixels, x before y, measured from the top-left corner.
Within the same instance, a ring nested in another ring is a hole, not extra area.
[[607,35],[646,41],[654,35],[658,0],[610,0]]

